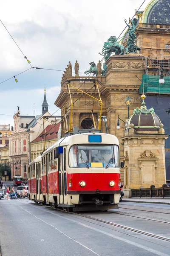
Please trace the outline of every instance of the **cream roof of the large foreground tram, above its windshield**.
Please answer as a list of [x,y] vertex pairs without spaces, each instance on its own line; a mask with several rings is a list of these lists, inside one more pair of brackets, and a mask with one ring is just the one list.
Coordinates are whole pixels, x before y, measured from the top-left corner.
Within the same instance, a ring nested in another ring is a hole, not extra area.
[[[87,135],[102,135],[102,136],[106,136],[106,137],[110,137],[109,138],[109,142],[111,144],[111,137],[115,140],[114,144],[119,145],[119,140],[116,136],[112,135],[112,134],[105,134],[105,133],[78,133],[78,134],[72,134],[72,135],[68,135],[65,137],[62,137],[60,140],[58,140],[56,143],[54,143],[51,147],[47,148],[43,153],[42,156],[44,156],[45,154],[47,154],[48,152],[50,152],[52,149],[57,148],[57,146],[65,146],[69,144],[70,140],[74,140],[75,137],[79,137],[79,139],[83,136],[87,136]],[[108,143],[108,142],[107,142]],[[74,143],[75,144],[75,143]],[[79,140],[79,144],[85,144],[85,143],[81,143],[81,140]],[[92,143],[90,143],[92,144]],[[104,143],[100,143],[100,144],[104,144]]]

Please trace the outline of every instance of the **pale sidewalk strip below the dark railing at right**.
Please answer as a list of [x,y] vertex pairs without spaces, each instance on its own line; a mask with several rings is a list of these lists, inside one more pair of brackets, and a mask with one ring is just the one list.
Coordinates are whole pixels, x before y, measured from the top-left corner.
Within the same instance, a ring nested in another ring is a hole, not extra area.
[[122,202],[170,204],[170,198],[123,198]]

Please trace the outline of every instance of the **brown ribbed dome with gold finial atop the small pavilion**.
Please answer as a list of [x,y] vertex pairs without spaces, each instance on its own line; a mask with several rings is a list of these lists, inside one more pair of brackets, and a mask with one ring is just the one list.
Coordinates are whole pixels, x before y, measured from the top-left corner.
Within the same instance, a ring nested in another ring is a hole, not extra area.
[[155,129],[160,128],[161,121],[159,117],[154,112],[153,108],[147,109],[145,106],[145,95],[143,94],[141,98],[143,99],[141,108],[134,109],[132,115],[127,121],[126,130],[130,128],[130,124],[133,124],[136,129],[155,131]]

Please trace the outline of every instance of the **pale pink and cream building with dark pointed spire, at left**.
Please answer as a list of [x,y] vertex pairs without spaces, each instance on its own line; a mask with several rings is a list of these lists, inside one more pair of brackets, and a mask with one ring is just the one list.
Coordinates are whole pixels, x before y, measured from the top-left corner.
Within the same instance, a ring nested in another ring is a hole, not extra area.
[[[46,108],[46,111],[45,109]],[[14,127],[11,127],[11,135],[9,136],[9,162],[11,164],[11,178],[14,175],[27,177],[28,163],[30,162],[30,145],[32,140],[42,132],[49,124],[44,116],[51,116],[48,112],[48,104],[44,93],[44,101],[42,103],[42,114],[38,116],[21,116],[20,108],[14,114]]]

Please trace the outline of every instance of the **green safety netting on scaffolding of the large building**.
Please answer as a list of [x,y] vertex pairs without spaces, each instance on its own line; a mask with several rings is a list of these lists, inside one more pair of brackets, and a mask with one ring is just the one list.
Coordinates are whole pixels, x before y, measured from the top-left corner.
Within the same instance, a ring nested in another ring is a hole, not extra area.
[[164,84],[159,84],[160,76],[151,76],[144,74],[142,76],[143,83],[139,87],[139,94],[144,93],[170,93],[170,76],[164,76]]

